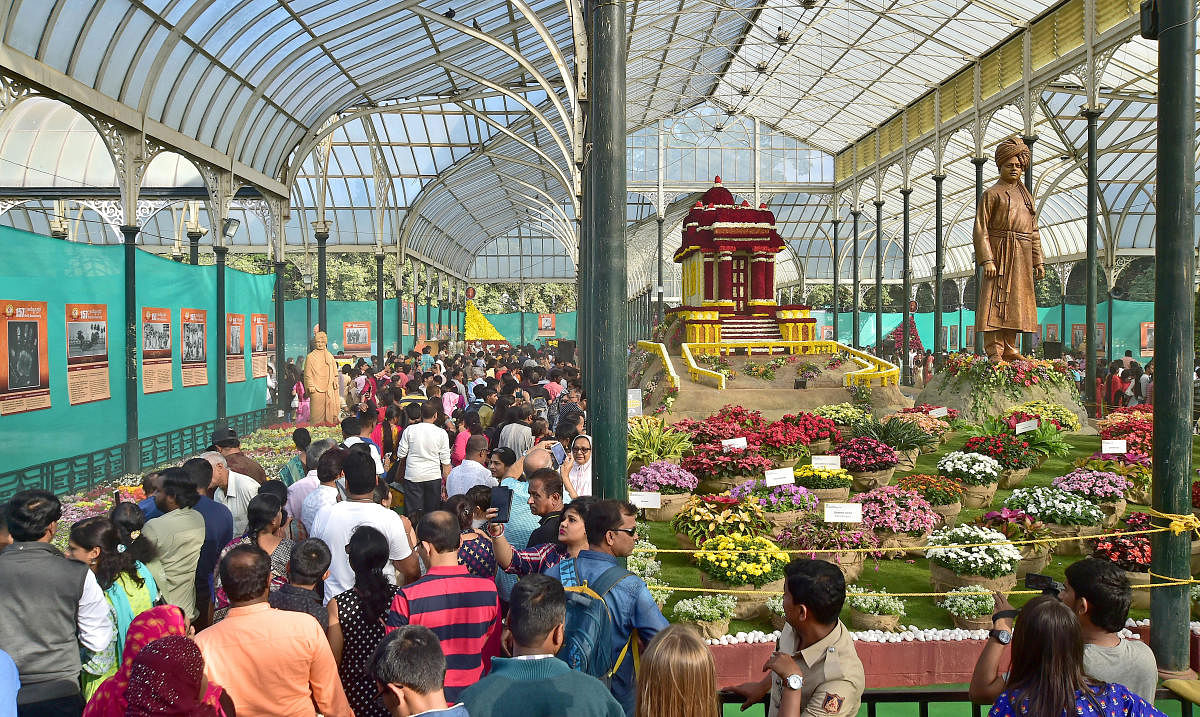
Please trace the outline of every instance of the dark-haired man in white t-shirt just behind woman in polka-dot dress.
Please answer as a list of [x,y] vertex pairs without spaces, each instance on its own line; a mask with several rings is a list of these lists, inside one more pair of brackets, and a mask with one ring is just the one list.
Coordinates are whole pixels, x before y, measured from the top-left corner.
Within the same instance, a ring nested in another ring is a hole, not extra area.
[[396,573],[403,576],[404,583],[412,583],[421,576],[416,554],[408,543],[404,520],[374,502],[378,478],[371,457],[361,451],[348,451],[342,460],[342,471],[346,474],[346,500],[322,508],[311,532],[312,537],[325,541],[331,555],[329,577],[325,578],[326,603],[329,598],[354,586],[354,571],[346,555],[346,544],[362,525],[374,528],[388,538],[390,562],[384,567],[384,574],[389,580],[396,583]]

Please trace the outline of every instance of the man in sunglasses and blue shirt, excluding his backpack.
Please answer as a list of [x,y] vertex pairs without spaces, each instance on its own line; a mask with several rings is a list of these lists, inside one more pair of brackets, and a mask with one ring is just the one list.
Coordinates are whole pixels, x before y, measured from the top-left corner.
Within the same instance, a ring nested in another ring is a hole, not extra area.
[[[606,570],[620,565],[618,558],[628,558],[634,553],[637,508],[616,500],[598,501],[588,508],[583,528],[588,534],[588,549],[581,550],[575,560],[564,560],[546,572],[563,585],[595,583]],[[637,576],[629,574],[617,583],[605,596],[605,604],[612,616],[613,663],[635,629],[641,650],[667,626],[667,619],[650,597],[650,590]],[[637,675],[634,674],[632,656],[628,652],[612,677],[611,689],[625,715],[632,715]]]

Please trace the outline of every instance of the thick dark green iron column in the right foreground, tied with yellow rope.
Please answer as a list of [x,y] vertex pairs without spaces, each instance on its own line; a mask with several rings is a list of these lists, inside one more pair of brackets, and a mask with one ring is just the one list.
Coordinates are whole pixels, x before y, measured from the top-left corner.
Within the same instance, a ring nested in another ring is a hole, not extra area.
[[[1192,375],[1195,251],[1195,37],[1193,5],[1159,0],[1158,162],[1154,236],[1154,507],[1187,514],[1192,483]],[[1156,525],[1163,520],[1156,518]],[[1190,536],[1153,534],[1151,572],[1190,576]],[[1154,578],[1154,582],[1164,582]],[[1188,669],[1188,586],[1156,588],[1150,635],[1159,671]],[[1192,675],[1194,676],[1194,675]]]

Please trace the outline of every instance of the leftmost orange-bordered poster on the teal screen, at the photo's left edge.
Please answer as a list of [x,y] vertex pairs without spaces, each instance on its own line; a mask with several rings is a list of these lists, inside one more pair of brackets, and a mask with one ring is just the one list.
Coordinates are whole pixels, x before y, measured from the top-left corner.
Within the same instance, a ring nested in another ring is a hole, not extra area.
[[44,301],[5,301],[0,357],[0,416],[50,408]]

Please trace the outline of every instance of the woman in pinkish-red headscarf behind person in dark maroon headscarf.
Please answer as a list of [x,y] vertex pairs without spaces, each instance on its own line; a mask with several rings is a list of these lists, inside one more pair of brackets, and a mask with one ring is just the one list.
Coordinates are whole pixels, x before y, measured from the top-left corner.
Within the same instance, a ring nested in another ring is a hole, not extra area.
[[[88,701],[88,706],[83,711],[84,717],[120,717],[125,715],[128,705],[130,676],[137,656],[155,640],[173,635],[188,638],[191,634],[193,634],[192,626],[184,616],[184,611],[176,605],[158,605],[134,617],[125,635],[121,667],[115,675],[104,680],[96,694]],[[214,710],[214,712],[209,712],[210,715],[233,715],[233,703],[216,685],[209,683],[202,701]],[[229,706],[224,707],[224,705]]]

